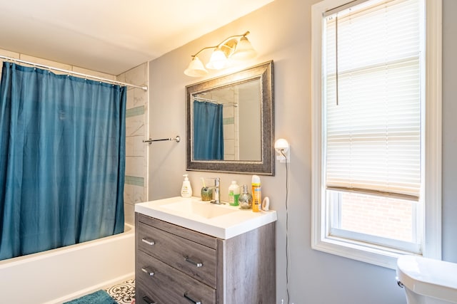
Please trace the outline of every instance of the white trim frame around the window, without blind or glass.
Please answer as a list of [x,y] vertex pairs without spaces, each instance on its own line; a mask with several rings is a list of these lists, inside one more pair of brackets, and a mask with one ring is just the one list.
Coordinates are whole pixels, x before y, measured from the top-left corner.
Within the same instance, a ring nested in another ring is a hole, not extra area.
[[[331,238],[326,235],[329,212],[322,182],[322,33],[323,14],[351,0],[324,0],[311,8],[311,98],[312,98],[312,185],[311,247],[318,251],[396,268],[396,259],[408,252],[383,246]],[[359,3],[360,0],[354,1]],[[355,4],[354,4],[355,5]],[[442,0],[425,0],[426,11],[426,130],[425,130],[425,208],[422,256],[441,259],[441,28]]]

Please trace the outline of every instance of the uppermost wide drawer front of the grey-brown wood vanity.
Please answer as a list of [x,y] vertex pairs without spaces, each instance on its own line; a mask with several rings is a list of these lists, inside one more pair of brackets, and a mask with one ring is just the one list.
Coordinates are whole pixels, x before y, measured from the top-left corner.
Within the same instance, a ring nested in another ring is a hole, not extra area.
[[141,251],[216,288],[215,249],[144,223],[139,223],[136,234]]

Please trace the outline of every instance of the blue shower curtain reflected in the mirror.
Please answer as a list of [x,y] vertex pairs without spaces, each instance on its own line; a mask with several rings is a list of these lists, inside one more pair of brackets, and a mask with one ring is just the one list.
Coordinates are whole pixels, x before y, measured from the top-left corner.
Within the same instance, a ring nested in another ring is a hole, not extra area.
[[224,159],[223,105],[194,100],[194,159]]

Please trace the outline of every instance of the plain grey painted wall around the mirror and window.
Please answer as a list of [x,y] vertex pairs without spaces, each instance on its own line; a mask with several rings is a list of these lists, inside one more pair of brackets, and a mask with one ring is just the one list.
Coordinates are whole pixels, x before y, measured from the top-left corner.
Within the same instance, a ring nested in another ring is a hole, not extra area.
[[[276,0],[237,21],[208,33],[150,63],[151,137],[186,137],[186,85],[201,81],[183,70],[191,54],[227,36],[248,36],[258,58],[248,65],[274,61],[275,137],[291,144],[288,243],[290,303],[406,303],[395,271],[311,249],[311,5],[318,0]],[[457,262],[457,1],[444,0],[443,26],[443,258]],[[211,75],[214,77],[214,75]],[[179,196],[186,173],[186,142],[159,142],[149,147],[149,199]],[[187,172],[199,192],[200,177],[221,177],[222,199],[228,199],[231,180],[249,184],[251,176]],[[453,178],[454,177],[454,178]],[[275,177],[261,177],[264,196],[278,211],[276,231],[277,299],[286,300],[286,169],[276,162]],[[284,302],[286,303],[286,301]]]

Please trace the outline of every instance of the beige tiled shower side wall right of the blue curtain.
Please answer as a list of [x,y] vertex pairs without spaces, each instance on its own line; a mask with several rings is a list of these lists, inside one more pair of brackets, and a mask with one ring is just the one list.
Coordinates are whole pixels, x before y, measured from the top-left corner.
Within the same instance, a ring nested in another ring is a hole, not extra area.
[[[117,80],[133,85],[148,85],[148,64],[117,76]],[[124,211],[126,222],[134,224],[134,206],[147,201],[148,145],[148,93],[141,88],[127,90],[126,109],[126,182],[124,186]]]

